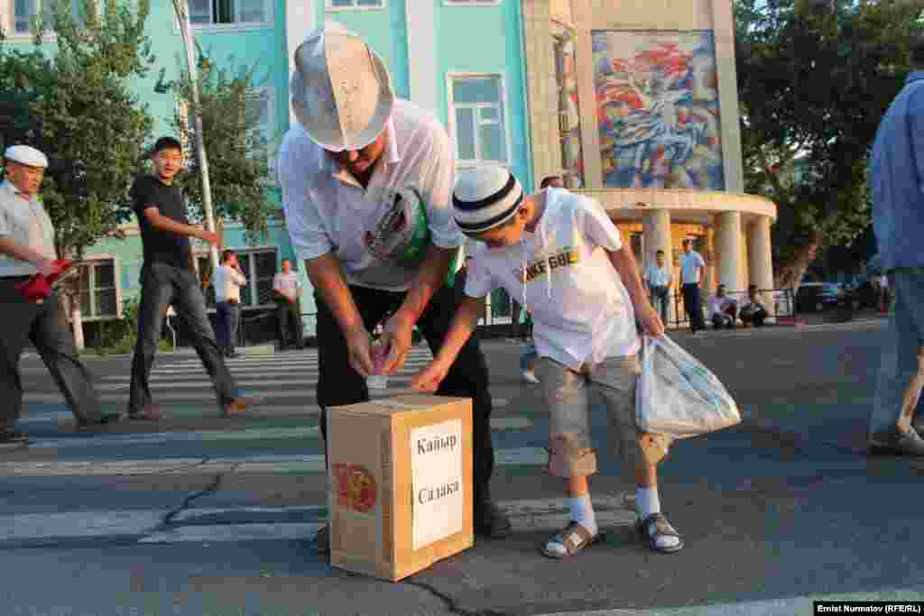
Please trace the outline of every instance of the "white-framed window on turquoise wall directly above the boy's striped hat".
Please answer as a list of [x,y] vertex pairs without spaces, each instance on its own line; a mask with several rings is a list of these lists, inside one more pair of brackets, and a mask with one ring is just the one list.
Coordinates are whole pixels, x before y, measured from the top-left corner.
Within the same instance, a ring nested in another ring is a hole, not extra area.
[[499,75],[450,77],[449,95],[458,163],[509,163],[504,80]]

